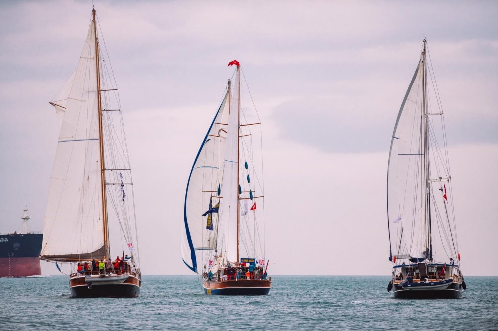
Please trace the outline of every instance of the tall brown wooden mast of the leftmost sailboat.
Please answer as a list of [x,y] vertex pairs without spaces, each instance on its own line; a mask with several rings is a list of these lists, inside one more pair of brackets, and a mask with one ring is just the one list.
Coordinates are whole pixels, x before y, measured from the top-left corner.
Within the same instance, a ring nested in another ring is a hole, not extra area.
[[109,255],[109,234],[107,225],[107,199],[106,199],[106,172],[104,164],[104,140],[102,131],[102,103],[100,87],[100,59],[99,59],[99,40],[97,38],[97,20],[95,19],[95,9],[92,9],[94,36],[95,36],[95,63],[97,70],[97,108],[99,110],[99,147],[100,147],[100,177],[102,190],[102,223],[104,226],[104,258]]

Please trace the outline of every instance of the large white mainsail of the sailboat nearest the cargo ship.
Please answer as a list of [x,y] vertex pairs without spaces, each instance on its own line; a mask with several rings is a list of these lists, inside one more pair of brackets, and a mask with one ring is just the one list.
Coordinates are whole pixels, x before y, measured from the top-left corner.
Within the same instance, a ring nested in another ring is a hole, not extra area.
[[106,250],[96,65],[91,22],[71,83],[50,178],[44,259],[102,258]]

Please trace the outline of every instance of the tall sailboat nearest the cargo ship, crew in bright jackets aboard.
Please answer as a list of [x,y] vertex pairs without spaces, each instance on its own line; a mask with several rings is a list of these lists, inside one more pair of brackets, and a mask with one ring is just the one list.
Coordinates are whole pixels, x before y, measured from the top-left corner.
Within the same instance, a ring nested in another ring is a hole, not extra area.
[[[133,181],[119,94],[97,27],[93,9],[78,67],[50,102],[60,133],[40,259],[59,270],[69,264],[72,297],[137,297]],[[115,232],[121,248],[111,260]]]

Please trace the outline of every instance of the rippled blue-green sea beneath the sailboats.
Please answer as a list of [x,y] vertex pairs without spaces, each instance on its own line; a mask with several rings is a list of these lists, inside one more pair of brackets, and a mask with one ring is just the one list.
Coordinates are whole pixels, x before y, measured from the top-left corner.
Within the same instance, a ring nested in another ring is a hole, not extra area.
[[69,297],[67,276],[0,279],[0,330],[498,330],[498,277],[461,299],[394,299],[386,276],[274,276],[267,296],[208,296],[143,276],[140,297]]

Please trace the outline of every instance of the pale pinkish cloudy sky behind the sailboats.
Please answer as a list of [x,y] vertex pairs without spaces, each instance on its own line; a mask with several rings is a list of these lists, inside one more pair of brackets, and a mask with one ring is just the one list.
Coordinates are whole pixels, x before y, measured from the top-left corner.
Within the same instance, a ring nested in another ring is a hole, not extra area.
[[[389,275],[387,158],[425,37],[462,271],[498,276],[486,263],[498,251],[497,2],[93,3],[120,90],[144,274],[193,274],[180,251],[185,186],[237,59],[262,122],[269,273]],[[21,229],[26,205],[41,231],[59,134],[48,102],[76,68],[92,2],[0,10],[0,232]]]

